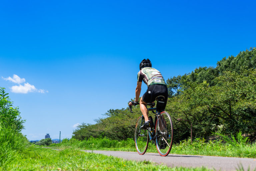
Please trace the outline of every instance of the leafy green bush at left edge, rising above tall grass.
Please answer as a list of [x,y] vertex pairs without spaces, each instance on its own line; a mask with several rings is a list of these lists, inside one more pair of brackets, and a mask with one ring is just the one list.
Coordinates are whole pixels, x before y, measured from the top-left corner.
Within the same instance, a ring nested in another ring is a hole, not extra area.
[[19,108],[13,107],[12,104],[5,88],[0,87],[0,122],[20,132],[24,128],[25,120],[21,119]]

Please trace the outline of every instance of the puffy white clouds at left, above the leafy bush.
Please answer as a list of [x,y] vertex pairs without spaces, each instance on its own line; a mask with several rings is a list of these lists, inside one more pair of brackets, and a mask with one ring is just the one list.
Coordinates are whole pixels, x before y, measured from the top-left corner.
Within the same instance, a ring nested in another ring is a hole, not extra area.
[[34,85],[31,85],[29,84],[28,82],[27,83],[24,83],[24,85],[21,85],[20,83],[23,83],[25,82],[25,78],[20,78],[18,75],[16,74],[13,74],[13,77],[8,77],[8,78],[4,78],[2,77],[4,80],[9,80],[13,83],[17,83],[19,84],[18,86],[12,86],[11,87],[11,92],[13,93],[29,93],[29,92],[38,92],[38,93],[48,93],[48,91],[44,90],[44,89],[36,89],[36,87]]

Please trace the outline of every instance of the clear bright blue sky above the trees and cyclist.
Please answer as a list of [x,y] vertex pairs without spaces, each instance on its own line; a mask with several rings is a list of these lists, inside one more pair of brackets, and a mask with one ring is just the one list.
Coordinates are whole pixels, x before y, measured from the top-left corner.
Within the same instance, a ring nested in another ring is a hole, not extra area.
[[144,58],[167,80],[255,47],[255,5],[1,1],[0,87],[26,119],[29,140],[59,131],[71,138],[75,124],[127,107]]

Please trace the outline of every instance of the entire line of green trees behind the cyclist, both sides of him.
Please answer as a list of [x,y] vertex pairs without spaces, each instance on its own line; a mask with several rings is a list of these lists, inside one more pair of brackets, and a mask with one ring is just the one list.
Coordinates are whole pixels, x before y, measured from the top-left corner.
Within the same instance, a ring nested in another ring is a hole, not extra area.
[[[211,136],[214,132],[234,134],[241,130],[255,139],[256,134],[256,49],[240,52],[217,62],[214,67],[199,67],[189,74],[170,77],[166,111],[174,123],[175,140],[190,136]],[[127,104],[128,105],[128,104]],[[111,109],[96,124],[83,123],[73,132],[73,138],[93,137],[127,139],[134,137],[134,125],[141,115],[126,109]]]

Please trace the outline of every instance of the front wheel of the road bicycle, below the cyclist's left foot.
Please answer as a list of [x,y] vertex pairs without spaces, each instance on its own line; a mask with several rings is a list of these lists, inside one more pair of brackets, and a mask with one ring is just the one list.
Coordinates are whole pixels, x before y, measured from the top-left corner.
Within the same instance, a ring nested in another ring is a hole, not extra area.
[[149,141],[149,136],[148,136],[148,130],[142,130],[140,127],[142,124],[144,124],[145,120],[144,117],[141,116],[136,122],[135,125],[135,146],[140,155],[143,155],[146,153],[147,148],[148,148],[148,141]]

